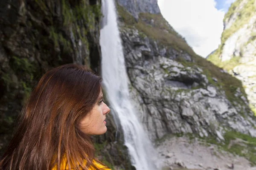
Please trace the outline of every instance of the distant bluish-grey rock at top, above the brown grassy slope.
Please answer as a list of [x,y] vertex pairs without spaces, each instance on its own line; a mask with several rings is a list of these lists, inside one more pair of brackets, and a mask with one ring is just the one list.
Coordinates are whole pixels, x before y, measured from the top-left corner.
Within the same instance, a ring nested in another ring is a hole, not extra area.
[[157,0],[117,0],[117,2],[126,8],[136,19],[139,13],[160,13]]

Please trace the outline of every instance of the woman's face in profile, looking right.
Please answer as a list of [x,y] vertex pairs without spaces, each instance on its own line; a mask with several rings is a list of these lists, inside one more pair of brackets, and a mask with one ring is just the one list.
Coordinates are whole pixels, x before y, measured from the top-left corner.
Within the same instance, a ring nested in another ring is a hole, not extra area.
[[92,111],[81,119],[79,125],[81,130],[87,135],[101,135],[106,133],[106,114],[110,112],[108,106],[102,101],[102,91]]

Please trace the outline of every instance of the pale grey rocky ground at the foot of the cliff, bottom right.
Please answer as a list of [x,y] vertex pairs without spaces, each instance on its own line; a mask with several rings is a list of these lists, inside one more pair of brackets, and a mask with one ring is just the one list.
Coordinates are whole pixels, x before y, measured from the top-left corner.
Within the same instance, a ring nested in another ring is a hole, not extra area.
[[157,144],[163,170],[256,170],[250,162],[201,139],[171,137]]

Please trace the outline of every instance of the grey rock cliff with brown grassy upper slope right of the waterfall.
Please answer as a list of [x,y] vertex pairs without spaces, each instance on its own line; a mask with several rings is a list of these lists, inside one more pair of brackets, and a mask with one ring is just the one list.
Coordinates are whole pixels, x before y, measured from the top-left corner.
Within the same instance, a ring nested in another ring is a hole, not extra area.
[[[125,12],[119,6],[123,20]],[[153,139],[166,133],[223,139],[227,130],[256,136],[255,117],[239,80],[193,53],[161,14],[141,13],[135,26],[128,24],[120,25],[131,98]]]

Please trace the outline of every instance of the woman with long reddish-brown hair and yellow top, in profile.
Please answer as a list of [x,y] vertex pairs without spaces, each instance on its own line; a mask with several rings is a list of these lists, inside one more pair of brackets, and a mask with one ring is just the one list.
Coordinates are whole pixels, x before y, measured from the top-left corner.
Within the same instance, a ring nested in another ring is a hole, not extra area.
[[91,135],[106,132],[110,109],[102,79],[81,65],[61,65],[38,82],[24,106],[1,170],[108,169],[95,159]]

